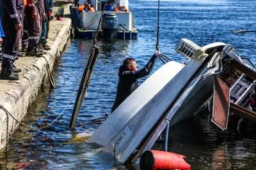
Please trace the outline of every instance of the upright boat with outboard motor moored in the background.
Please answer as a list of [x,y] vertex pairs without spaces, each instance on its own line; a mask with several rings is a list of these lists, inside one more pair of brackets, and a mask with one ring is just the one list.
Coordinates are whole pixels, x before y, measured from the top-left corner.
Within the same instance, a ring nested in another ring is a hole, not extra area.
[[[102,10],[102,24],[99,27],[99,38],[137,39],[138,30],[134,25],[132,10],[128,0],[90,1],[93,10],[78,10],[70,6],[72,25],[78,38],[92,39],[97,31]],[[79,0],[83,6],[86,0]]]

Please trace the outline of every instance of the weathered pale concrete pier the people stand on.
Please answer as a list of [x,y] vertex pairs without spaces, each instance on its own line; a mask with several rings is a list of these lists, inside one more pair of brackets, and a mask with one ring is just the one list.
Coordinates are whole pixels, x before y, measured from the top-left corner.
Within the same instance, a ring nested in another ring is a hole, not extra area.
[[[28,107],[33,103],[44,81],[49,80],[47,63],[52,71],[54,60],[60,57],[71,32],[71,20],[53,20],[50,22],[47,44],[51,46],[51,53],[44,57],[20,57],[15,66],[22,69],[19,81],[0,80],[0,106],[3,106],[15,119],[22,121]],[[1,64],[1,63],[0,63]],[[8,116],[8,119],[7,119]],[[8,133],[7,129],[8,120]],[[6,146],[6,135],[12,135],[19,123],[6,111],[0,108],[0,149]]]

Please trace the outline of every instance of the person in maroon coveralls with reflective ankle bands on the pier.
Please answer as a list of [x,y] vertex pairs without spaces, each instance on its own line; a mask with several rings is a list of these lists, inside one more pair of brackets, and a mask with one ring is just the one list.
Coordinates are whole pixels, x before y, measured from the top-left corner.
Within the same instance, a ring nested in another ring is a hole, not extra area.
[[25,13],[28,21],[28,49],[26,55],[41,57],[44,52],[39,48],[42,34],[42,20],[45,20],[44,1],[27,0]]

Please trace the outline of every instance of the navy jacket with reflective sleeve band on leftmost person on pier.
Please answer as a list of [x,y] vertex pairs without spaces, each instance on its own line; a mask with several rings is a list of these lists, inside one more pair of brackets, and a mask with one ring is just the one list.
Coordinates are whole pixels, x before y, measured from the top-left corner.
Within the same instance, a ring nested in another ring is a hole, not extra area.
[[1,0],[0,2],[3,4],[3,10],[6,10],[12,18],[14,25],[19,24],[17,10],[24,11],[24,0]]

